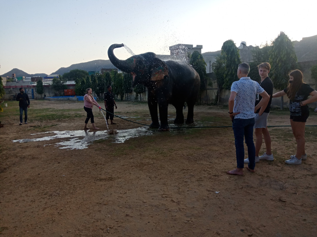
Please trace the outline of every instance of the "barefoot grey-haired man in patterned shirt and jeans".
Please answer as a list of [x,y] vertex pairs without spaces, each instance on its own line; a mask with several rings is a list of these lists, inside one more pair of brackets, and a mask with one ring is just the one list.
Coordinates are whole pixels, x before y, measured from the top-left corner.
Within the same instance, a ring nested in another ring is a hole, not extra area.
[[[245,143],[248,146],[249,164],[247,169],[250,172],[255,172],[255,146],[253,142],[255,112],[261,108],[259,115],[262,115],[270,99],[268,93],[264,91],[260,84],[248,77],[249,71],[249,64],[239,64],[237,76],[240,80],[234,81],[231,85],[229,114],[235,136],[237,168],[227,171],[227,174],[230,175],[243,175],[243,138],[245,138]],[[260,94],[262,99],[255,106],[256,94]]]

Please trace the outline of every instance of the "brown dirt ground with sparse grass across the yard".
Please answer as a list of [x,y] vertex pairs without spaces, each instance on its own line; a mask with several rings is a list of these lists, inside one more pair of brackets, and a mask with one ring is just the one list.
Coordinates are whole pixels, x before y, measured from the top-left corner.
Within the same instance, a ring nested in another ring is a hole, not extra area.
[[[146,104],[117,105],[117,115],[133,121],[141,116],[139,122],[150,124]],[[236,167],[236,158],[230,127],[154,130],[124,143],[107,138],[73,150],[54,145],[67,138],[12,142],[34,133],[83,129],[83,109],[71,119],[32,119],[32,109],[43,107],[58,113],[83,103],[33,100],[28,125],[19,126],[18,115],[2,117],[2,237],[316,236],[316,127],[306,127],[307,161],[301,165],[284,162],[295,153],[291,128],[272,127],[275,160],[256,163],[256,173],[244,169],[243,176],[231,176],[226,171]],[[230,126],[227,112],[196,106],[194,120],[201,126]],[[271,112],[269,125],[289,125],[287,113],[277,114]],[[169,115],[175,117],[173,106]],[[97,108],[94,116],[106,133]],[[312,114],[307,125],[316,125],[316,118]],[[118,133],[141,126],[114,122],[110,128]],[[260,154],[264,151],[263,143]]]

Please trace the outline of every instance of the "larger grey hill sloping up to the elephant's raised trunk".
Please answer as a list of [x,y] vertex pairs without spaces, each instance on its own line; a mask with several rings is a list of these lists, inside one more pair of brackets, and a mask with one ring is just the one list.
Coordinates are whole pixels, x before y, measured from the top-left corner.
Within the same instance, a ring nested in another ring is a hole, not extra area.
[[61,67],[56,72],[52,74],[59,74],[63,75],[64,73],[68,73],[71,70],[74,69],[81,69],[85,70],[87,72],[89,71],[101,71],[101,68],[116,68],[113,66],[113,64],[110,62],[110,60],[94,60],[90,62],[81,62],[77,64],[72,64],[69,67]]

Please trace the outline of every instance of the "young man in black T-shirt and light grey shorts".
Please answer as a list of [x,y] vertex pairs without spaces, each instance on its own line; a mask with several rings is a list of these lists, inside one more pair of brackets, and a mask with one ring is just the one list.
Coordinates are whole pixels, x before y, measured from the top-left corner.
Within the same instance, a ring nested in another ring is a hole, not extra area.
[[[263,114],[259,116],[259,111],[258,109],[256,111],[256,117],[255,117],[255,135],[256,135],[256,162],[259,162],[260,160],[274,160],[272,151],[271,151],[271,136],[270,133],[268,132],[268,115],[270,113],[270,107],[271,107],[271,102],[272,102],[272,95],[273,95],[273,82],[272,80],[268,77],[268,73],[270,72],[271,65],[268,62],[263,62],[257,66],[259,70],[259,75],[261,77],[261,82],[260,86],[268,93],[270,96],[270,100],[268,101],[268,105],[266,106]],[[256,98],[256,103],[257,105],[261,99],[262,96],[258,95],[259,97]],[[265,146],[266,146],[266,152],[262,156],[259,157],[259,152],[261,149],[262,145],[262,135],[264,138]],[[249,158],[246,158],[244,160],[244,163],[249,163]]]

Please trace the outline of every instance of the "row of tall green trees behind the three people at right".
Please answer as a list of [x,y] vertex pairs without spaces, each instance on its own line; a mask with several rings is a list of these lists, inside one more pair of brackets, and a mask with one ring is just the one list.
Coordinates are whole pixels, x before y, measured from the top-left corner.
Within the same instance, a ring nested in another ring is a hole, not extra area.
[[[283,90],[288,85],[288,74],[290,71],[299,68],[295,54],[294,44],[284,32],[275,38],[270,44],[266,43],[260,47],[251,50],[253,60],[249,62],[249,77],[255,80],[259,77],[257,65],[262,62],[269,62],[271,65],[268,74],[273,81],[273,86],[277,90]],[[236,74],[240,60],[239,49],[232,40],[227,40],[221,48],[221,55],[216,57],[212,63],[212,70],[217,81],[217,104],[219,104],[219,95],[223,89],[230,90],[231,84],[239,80]],[[311,77],[315,80],[317,86],[317,65],[311,67]],[[281,108],[283,108],[283,97],[281,97]]]

